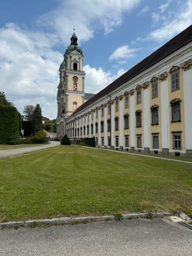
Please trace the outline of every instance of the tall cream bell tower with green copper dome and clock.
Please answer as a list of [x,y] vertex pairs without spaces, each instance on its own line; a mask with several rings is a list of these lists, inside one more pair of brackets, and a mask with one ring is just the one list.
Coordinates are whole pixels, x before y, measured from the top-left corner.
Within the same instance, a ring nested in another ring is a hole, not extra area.
[[66,118],[84,103],[84,56],[77,40],[74,29],[71,44],[66,48],[64,61],[59,68],[60,82],[57,87],[58,114],[56,120],[57,138],[63,137],[66,133]]

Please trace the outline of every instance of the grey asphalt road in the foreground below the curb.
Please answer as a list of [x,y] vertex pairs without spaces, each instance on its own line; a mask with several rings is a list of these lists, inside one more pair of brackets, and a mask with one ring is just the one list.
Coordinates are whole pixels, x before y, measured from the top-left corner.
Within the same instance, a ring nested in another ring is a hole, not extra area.
[[2,256],[191,256],[192,230],[165,219],[0,230]]

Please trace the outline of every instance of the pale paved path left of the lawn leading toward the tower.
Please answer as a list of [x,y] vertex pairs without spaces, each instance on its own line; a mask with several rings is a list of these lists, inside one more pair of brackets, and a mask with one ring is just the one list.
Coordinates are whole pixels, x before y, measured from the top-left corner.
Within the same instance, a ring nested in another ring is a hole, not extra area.
[[8,150],[0,150],[0,158],[6,158],[9,156],[16,156],[19,154],[24,154],[36,150],[41,150],[44,148],[52,148],[55,146],[60,145],[59,141],[51,141],[48,144],[40,145],[40,146],[35,146],[35,147],[28,147],[28,148],[15,148],[15,149],[8,149]]

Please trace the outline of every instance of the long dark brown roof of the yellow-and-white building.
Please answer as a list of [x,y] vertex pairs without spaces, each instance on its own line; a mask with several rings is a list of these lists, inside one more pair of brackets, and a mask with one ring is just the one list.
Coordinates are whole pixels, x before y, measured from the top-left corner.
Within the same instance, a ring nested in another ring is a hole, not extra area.
[[180,34],[172,38],[170,41],[168,41],[166,44],[164,44],[162,47],[160,47],[158,50],[150,54],[148,57],[146,57],[144,60],[136,64],[133,68],[128,70],[126,73],[124,73],[122,76],[117,78],[114,82],[109,84],[107,87],[105,87],[103,90],[98,92],[95,96],[90,98],[90,100],[86,101],[84,104],[79,106],[71,116],[76,114],[78,111],[83,110],[99,98],[105,96],[107,93],[111,92],[112,90],[118,88],[125,82],[128,82],[138,74],[142,73],[144,70],[150,68],[160,60],[163,60],[173,52],[176,52],[186,44],[192,42],[192,25],[186,28],[184,31],[182,31]]

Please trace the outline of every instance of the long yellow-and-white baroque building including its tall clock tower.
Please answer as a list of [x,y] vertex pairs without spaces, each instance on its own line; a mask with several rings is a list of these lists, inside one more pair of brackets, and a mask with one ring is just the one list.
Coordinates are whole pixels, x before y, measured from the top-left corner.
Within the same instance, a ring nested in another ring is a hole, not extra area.
[[57,124],[64,122],[58,136],[95,136],[97,147],[192,157],[192,26],[85,103],[82,59],[72,44],[60,67],[66,109],[58,90]]

